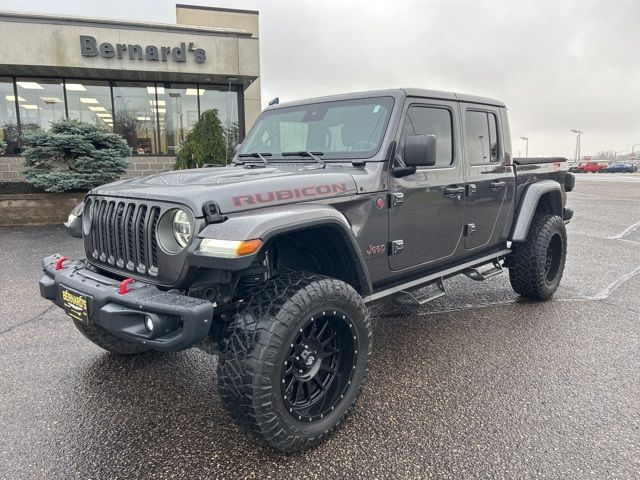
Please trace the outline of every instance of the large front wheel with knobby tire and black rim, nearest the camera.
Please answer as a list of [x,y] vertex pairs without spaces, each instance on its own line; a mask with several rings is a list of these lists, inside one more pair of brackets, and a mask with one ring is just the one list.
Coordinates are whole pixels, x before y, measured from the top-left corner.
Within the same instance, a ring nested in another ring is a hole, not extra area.
[[272,447],[322,442],[358,397],[371,353],[371,322],[347,283],[291,272],[241,304],[218,363],[220,395],[234,419]]

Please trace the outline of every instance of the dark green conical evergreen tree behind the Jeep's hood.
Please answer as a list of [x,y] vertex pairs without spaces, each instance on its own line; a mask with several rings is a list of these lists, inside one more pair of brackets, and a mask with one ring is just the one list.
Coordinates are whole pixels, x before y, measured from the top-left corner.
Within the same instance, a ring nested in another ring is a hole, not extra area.
[[227,137],[218,110],[205,110],[185,138],[175,168],[197,168],[205,164],[226,165]]

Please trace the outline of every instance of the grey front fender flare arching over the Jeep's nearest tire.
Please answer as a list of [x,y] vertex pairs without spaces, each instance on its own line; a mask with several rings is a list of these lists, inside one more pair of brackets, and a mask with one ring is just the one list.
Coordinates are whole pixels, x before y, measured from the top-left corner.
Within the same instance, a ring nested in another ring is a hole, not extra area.
[[[199,239],[213,238],[217,240],[252,240],[259,238],[266,245],[272,238],[288,232],[294,232],[317,226],[331,226],[342,237],[353,258],[359,285],[357,290],[363,296],[372,291],[362,251],[353,234],[347,218],[335,208],[321,204],[287,205],[267,209],[253,210],[229,216],[222,223],[207,225],[198,235]],[[261,250],[253,255],[239,258],[219,258],[202,255],[197,248],[200,242],[193,242],[190,247],[189,264],[224,270],[243,270],[248,268],[258,257]]]

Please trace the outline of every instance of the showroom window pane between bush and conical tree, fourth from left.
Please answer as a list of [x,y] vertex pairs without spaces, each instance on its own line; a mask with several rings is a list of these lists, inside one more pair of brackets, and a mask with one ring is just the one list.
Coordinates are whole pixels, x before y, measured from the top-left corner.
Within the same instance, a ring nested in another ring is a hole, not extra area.
[[166,113],[166,100],[156,98],[153,83],[113,84],[115,131],[133,149],[133,155],[158,154],[158,113]]

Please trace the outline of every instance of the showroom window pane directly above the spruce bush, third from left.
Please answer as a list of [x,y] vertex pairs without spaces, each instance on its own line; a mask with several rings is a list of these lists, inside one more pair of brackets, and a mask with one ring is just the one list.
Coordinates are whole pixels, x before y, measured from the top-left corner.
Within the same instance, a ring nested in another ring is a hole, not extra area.
[[69,118],[95,123],[113,130],[109,82],[66,80]]

